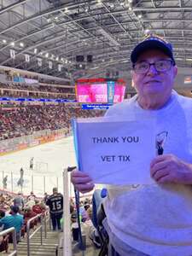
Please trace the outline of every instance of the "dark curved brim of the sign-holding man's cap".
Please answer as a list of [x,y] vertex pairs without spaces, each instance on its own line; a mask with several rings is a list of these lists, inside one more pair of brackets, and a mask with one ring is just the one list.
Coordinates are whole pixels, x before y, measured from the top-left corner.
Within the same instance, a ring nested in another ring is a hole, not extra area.
[[159,49],[165,55],[169,56],[173,60],[172,50],[169,49],[165,44],[160,41],[146,40],[141,44],[138,44],[135,49],[133,49],[131,53],[131,62],[136,63],[139,55],[141,55],[144,51],[148,49]]

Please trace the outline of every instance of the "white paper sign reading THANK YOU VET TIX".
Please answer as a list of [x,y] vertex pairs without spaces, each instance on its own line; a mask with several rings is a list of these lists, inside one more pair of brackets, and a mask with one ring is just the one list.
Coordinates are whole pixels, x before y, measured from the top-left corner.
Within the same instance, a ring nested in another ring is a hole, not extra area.
[[77,119],[76,125],[79,167],[95,183],[154,183],[149,171],[155,157],[151,119]]

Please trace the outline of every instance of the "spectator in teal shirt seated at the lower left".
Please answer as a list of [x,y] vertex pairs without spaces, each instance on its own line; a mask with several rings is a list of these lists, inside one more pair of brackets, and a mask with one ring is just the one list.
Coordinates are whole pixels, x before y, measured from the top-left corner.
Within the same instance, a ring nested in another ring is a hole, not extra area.
[[14,227],[16,230],[16,240],[20,241],[20,230],[23,224],[23,215],[19,214],[19,207],[11,207],[11,215],[0,219],[0,225],[3,225],[3,230]]

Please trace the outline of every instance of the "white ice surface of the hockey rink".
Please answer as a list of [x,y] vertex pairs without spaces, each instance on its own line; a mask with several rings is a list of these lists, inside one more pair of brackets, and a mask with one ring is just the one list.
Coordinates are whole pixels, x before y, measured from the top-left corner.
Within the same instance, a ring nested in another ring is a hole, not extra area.
[[[34,157],[33,170],[29,169],[29,161]],[[8,175],[7,190],[17,193],[22,190],[24,195],[34,191],[37,195],[51,193],[54,186],[63,190],[62,171],[67,166],[76,166],[73,149],[73,137],[45,143],[0,157],[0,182],[3,188],[3,177]],[[18,185],[20,168],[24,170],[24,183]],[[70,194],[73,188],[70,188]]]

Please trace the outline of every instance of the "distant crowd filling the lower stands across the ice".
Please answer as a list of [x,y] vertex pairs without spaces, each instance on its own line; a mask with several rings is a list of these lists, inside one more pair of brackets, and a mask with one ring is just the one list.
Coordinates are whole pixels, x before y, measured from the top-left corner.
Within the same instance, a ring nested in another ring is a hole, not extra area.
[[31,135],[34,131],[70,128],[72,118],[101,115],[72,105],[31,105],[0,108],[0,140]]

